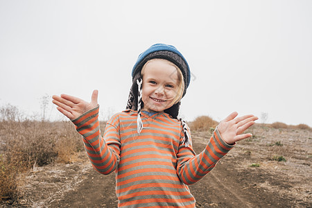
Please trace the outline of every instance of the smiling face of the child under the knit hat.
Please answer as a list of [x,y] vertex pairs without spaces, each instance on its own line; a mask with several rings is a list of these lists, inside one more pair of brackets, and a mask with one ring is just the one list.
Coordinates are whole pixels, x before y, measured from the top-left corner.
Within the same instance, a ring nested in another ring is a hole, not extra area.
[[177,96],[177,87],[177,69],[171,62],[161,59],[148,62],[143,74],[142,110],[163,112],[171,107]]

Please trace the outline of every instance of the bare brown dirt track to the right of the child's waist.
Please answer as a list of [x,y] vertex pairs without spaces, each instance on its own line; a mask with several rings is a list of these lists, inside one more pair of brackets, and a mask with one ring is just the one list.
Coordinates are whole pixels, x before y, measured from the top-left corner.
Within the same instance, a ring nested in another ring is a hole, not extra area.
[[292,198],[284,198],[259,186],[272,178],[270,174],[259,168],[240,171],[232,155],[228,156],[204,179],[190,186],[197,207],[295,207]]

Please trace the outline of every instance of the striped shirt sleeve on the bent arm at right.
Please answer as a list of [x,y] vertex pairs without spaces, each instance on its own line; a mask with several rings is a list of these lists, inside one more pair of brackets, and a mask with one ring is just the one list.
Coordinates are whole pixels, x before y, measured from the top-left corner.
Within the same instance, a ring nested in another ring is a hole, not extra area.
[[177,175],[184,184],[194,184],[198,182],[216,166],[216,163],[225,156],[234,145],[229,145],[221,139],[218,128],[216,128],[209,139],[205,150],[198,155],[194,153],[191,145],[185,147],[184,144],[180,142],[177,152]]

